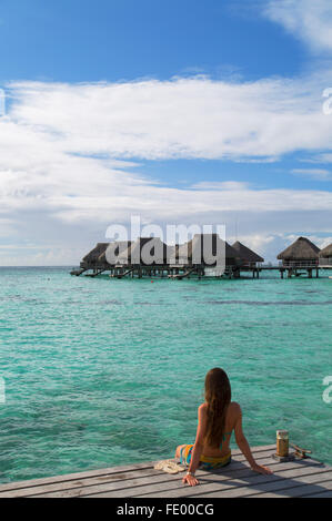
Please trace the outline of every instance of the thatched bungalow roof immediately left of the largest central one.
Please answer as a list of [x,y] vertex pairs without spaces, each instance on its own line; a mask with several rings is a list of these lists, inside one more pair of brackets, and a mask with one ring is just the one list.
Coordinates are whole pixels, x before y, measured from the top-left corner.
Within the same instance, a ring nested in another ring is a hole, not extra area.
[[158,266],[164,265],[168,246],[159,237],[139,237],[118,257],[118,266]]

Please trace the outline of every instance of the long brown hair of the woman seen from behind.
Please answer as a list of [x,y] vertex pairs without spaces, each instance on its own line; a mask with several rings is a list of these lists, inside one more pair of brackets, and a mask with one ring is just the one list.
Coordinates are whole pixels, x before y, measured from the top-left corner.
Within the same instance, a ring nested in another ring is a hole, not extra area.
[[231,396],[231,385],[225,371],[219,367],[211,369],[205,376],[205,401],[208,403],[205,443],[210,447],[219,447],[222,442]]

